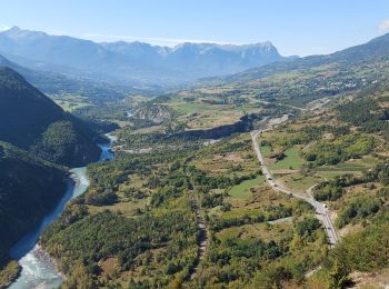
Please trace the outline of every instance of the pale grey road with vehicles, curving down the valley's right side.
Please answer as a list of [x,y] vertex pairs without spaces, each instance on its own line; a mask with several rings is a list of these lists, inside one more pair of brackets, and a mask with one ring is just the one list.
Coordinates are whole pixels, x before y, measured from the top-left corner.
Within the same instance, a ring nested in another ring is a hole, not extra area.
[[258,144],[258,138],[259,138],[259,136],[260,136],[260,133],[263,130],[252,131],[250,134],[251,134],[251,139],[252,139],[252,144],[253,144],[255,151],[257,153],[257,157],[258,157],[259,163],[261,166],[263,176],[266,177],[268,183],[276,191],[280,191],[280,192],[283,192],[283,193],[292,195],[293,197],[296,197],[298,199],[301,199],[301,200],[305,200],[305,201],[309,202],[310,205],[312,205],[315,207],[315,209],[316,209],[316,218],[318,218],[318,220],[320,220],[321,223],[325,227],[329,245],[331,247],[335,246],[338,242],[337,232],[336,232],[336,230],[333,228],[333,225],[331,222],[331,219],[329,217],[328,210],[326,209],[325,205],[322,205],[321,202],[318,202],[312,197],[311,190],[312,190],[312,188],[315,186],[307,190],[308,197],[306,197],[306,196],[301,196],[299,193],[296,193],[296,192],[293,192],[290,189],[280,187],[278,183],[275,182],[270,171],[268,170],[268,168],[265,165],[265,159],[263,159],[263,156],[262,156],[262,153],[261,153],[261,151],[259,149],[259,144]]

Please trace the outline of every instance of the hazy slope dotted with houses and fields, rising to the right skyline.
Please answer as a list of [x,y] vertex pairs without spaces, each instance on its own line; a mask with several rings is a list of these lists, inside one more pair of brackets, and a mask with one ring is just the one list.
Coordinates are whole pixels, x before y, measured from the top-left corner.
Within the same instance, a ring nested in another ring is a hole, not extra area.
[[[253,96],[298,107],[321,98],[377,90],[389,81],[389,33],[330,54],[279,61],[230,76],[201,79],[190,87],[222,92],[213,98]],[[228,93],[227,93],[228,92]],[[198,96],[200,96],[198,93]]]

